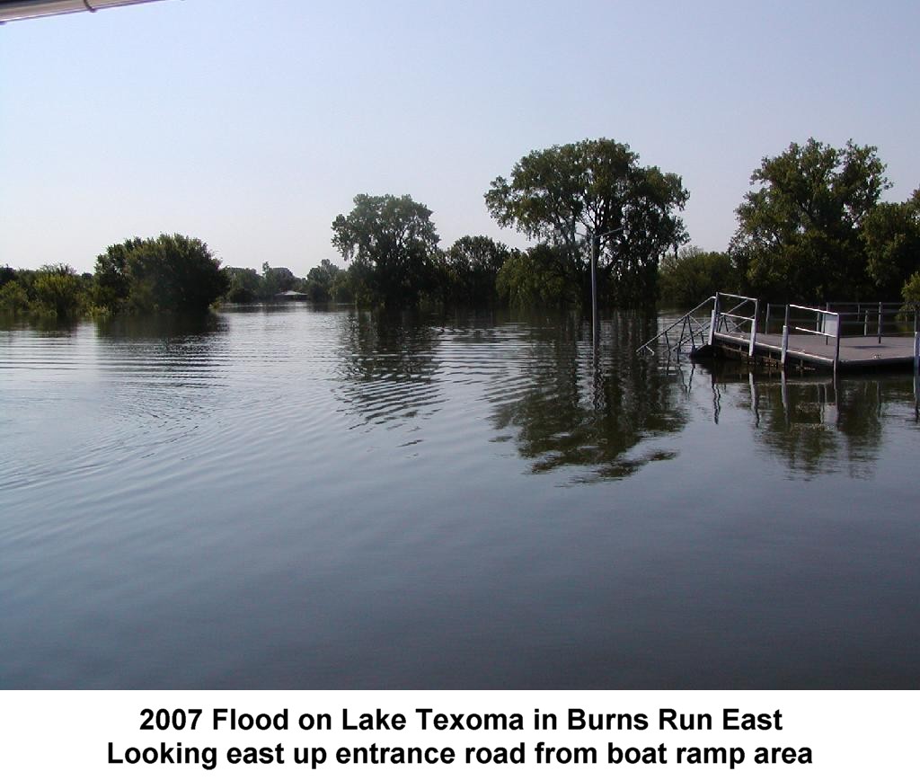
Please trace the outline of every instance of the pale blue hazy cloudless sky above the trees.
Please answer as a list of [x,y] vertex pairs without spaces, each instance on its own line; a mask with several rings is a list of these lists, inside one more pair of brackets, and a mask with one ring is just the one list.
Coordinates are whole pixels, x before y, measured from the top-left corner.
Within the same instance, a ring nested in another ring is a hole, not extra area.
[[628,143],[724,249],[766,156],[879,148],[920,187],[920,3],[165,0],[0,27],[0,265],[92,270],[183,233],[305,275],[361,192],[425,203],[442,246],[533,149]]

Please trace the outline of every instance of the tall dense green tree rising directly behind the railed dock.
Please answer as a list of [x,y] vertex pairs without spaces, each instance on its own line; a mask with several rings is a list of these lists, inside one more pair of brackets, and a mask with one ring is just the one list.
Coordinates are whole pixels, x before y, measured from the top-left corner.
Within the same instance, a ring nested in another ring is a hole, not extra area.
[[752,292],[816,303],[874,294],[862,229],[891,186],[876,152],[811,138],[763,159],[730,246]]

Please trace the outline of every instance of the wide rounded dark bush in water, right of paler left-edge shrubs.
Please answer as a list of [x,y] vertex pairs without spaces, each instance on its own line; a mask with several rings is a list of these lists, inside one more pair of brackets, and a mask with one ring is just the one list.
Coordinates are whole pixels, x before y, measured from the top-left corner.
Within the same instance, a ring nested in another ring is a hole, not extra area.
[[112,311],[203,311],[228,287],[207,245],[184,235],[109,247],[97,258],[96,281],[99,303]]

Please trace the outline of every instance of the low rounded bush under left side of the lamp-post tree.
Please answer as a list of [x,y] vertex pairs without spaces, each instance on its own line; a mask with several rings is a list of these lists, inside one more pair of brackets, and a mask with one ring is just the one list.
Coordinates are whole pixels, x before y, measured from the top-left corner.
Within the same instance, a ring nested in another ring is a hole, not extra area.
[[558,247],[537,244],[512,251],[498,273],[496,290],[512,306],[567,306],[578,303],[579,289],[569,278],[567,258]]

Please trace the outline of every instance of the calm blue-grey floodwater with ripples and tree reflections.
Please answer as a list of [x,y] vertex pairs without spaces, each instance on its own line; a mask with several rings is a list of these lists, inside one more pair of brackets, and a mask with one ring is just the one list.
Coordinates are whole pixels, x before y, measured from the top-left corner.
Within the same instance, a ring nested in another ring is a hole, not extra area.
[[656,325],[0,328],[0,685],[915,688],[913,378]]

